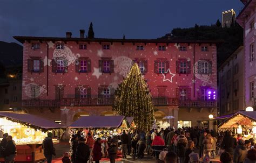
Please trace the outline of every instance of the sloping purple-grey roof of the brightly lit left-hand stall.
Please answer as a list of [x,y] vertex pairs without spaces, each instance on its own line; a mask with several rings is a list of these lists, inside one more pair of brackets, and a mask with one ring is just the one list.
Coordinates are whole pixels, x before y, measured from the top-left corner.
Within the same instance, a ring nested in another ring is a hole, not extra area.
[[0,117],[6,117],[10,121],[30,124],[42,129],[59,129],[65,126],[30,114],[18,114],[14,112],[0,112]]

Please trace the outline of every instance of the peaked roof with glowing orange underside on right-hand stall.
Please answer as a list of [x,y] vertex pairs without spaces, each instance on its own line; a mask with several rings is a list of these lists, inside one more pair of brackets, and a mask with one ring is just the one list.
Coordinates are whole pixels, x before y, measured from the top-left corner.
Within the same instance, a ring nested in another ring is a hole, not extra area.
[[244,123],[245,125],[250,124],[250,122],[256,122],[256,111],[238,111],[224,122],[218,125],[219,129],[231,129],[232,127],[237,127],[239,124]]

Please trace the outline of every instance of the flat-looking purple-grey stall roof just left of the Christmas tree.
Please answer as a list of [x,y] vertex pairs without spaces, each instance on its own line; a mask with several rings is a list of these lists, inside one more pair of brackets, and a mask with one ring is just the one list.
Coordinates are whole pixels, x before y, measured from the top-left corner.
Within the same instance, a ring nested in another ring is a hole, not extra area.
[[82,116],[70,128],[118,128],[124,116]]

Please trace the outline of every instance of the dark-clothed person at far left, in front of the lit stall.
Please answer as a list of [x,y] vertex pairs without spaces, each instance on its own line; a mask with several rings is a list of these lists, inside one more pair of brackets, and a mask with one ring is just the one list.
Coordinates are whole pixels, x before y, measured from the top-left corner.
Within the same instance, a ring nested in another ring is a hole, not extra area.
[[5,163],[13,163],[16,157],[16,144],[14,140],[12,140],[12,136],[7,136],[7,144],[4,148],[3,155],[4,155],[4,162]]

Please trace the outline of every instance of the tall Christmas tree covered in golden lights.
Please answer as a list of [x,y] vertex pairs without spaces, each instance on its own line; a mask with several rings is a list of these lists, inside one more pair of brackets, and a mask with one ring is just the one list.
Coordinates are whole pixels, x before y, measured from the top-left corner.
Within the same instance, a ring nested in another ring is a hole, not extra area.
[[152,96],[136,63],[116,91],[113,111],[117,115],[134,117],[137,129],[151,129],[154,121]]

